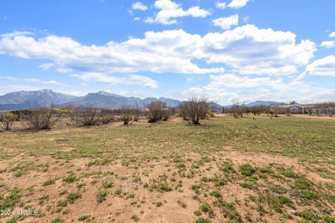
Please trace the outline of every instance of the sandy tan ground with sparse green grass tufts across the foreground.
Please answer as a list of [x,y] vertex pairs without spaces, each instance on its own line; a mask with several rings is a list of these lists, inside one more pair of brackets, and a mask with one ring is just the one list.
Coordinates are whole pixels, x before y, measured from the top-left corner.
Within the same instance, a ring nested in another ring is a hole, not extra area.
[[335,118],[253,117],[15,123],[0,222],[335,222]]

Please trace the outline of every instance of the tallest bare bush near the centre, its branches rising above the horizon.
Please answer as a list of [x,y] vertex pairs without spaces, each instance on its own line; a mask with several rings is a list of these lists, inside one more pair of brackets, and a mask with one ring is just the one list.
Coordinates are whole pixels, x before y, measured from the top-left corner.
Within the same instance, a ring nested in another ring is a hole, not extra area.
[[209,103],[206,99],[192,97],[187,102],[182,102],[179,106],[179,114],[188,123],[200,125],[200,119],[207,116]]

